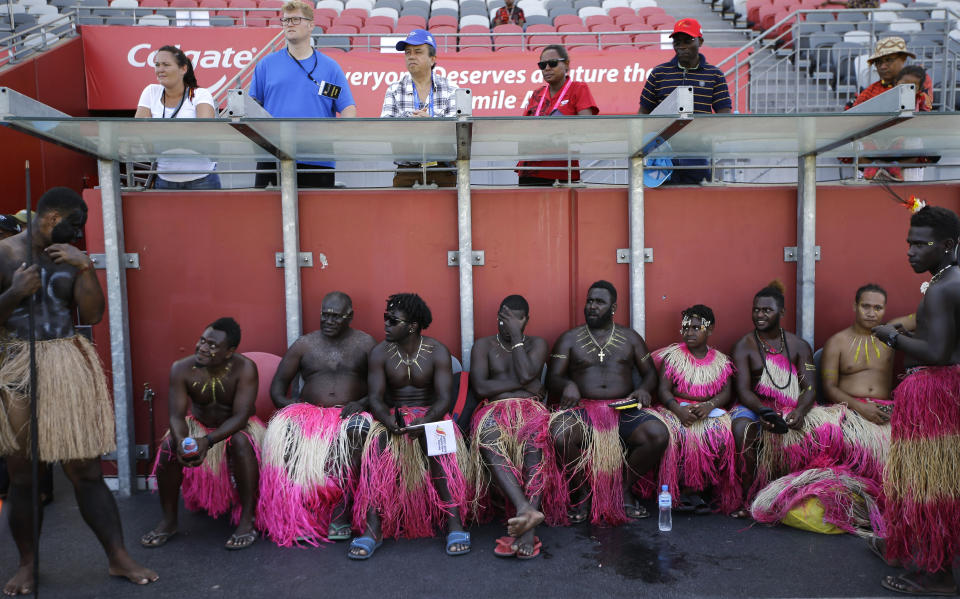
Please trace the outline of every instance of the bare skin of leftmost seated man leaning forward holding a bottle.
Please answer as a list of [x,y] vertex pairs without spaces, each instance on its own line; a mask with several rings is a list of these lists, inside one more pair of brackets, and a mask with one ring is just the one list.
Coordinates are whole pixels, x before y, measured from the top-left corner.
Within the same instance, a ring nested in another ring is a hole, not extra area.
[[[237,434],[256,413],[258,375],[256,364],[228,347],[224,331],[207,327],[197,341],[193,356],[177,360],[170,368],[170,437],[161,455],[176,459],[161,460],[157,483],[163,519],[141,539],[146,546],[156,535],[177,530],[177,498],[183,482],[183,468],[203,464],[212,445],[227,442],[227,458],[237,481],[242,512],[234,531],[243,535],[253,530],[254,508],[260,484],[256,453],[245,435]],[[189,435],[187,410],[203,425],[214,429],[206,437],[196,438],[197,454],[183,455],[183,440]],[[162,544],[162,543],[160,543]],[[228,546],[236,544],[233,537]]]

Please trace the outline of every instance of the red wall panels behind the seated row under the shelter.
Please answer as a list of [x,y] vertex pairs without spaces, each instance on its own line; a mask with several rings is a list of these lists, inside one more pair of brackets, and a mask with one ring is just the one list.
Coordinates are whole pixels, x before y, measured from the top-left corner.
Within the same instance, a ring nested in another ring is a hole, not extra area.
[[[960,185],[911,191],[960,210]],[[817,206],[816,345],[849,325],[853,293],[876,282],[890,293],[891,316],[912,312],[924,277],[905,259],[909,213],[872,186],[821,187]],[[103,251],[99,194],[88,190],[91,252]],[[784,326],[795,327],[796,264],[783,261],[796,245],[796,189],[667,188],[648,190],[647,340],[651,348],[677,339],[680,310],[705,303],[717,315],[712,343],[728,351],[751,330],[753,294],[780,279],[787,287]],[[140,270],[127,271],[131,359],[136,397],[144,382],[157,392],[157,434],[166,426],[170,363],[190,354],[200,331],[219,316],[243,328],[241,351],[282,353],[285,347],[279,192],[214,194],[146,192],[123,196],[126,250]],[[500,300],[525,295],[528,331],[553,343],[582,322],[587,287],[607,279],[620,291],[617,322],[629,323],[629,270],[616,263],[628,246],[627,192],[596,189],[478,189],[473,192],[477,337],[495,332]],[[429,333],[460,353],[457,247],[452,190],[347,190],[300,193],[301,249],[314,254],[303,269],[304,329],[319,327],[320,300],[349,293],[355,326],[383,338],[384,300],[415,291],[430,305]],[[319,258],[327,260],[323,268]],[[102,279],[101,279],[102,280]],[[109,360],[106,319],[95,329]],[[108,362],[107,362],[108,363]],[[136,401],[137,441],[149,439],[146,405]]]

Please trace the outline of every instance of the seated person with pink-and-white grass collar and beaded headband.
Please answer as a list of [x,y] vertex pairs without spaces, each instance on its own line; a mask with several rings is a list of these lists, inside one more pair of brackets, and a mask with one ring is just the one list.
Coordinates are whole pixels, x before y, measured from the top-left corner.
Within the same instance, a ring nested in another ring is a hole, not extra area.
[[740,506],[736,445],[726,412],[733,363],[707,345],[717,322],[713,310],[697,304],[682,316],[683,343],[653,352],[660,375],[656,414],[671,432],[670,448],[660,463],[660,484],[680,499],[683,511],[709,513],[701,492],[712,491],[719,509],[729,512]]

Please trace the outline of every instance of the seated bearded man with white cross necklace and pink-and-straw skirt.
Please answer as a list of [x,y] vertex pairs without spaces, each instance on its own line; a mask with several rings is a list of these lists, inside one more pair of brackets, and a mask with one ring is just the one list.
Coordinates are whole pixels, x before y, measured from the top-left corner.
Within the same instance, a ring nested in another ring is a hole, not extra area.
[[[573,523],[589,517],[594,523],[620,524],[649,516],[633,486],[657,467],[670,443],[667,427],[642,409],[650,406],[657,384],[647,346],[636,331],[613,322],[616,309],[612,284],[591,285],[583,309],[586,324],[561,335],[550,355],[547,381],[551,394],[560,398],[551,434],[568,482]],[[636,388],[634,367],[641,377]],[[610,407],[624,398],[639,405],[622,411]]]

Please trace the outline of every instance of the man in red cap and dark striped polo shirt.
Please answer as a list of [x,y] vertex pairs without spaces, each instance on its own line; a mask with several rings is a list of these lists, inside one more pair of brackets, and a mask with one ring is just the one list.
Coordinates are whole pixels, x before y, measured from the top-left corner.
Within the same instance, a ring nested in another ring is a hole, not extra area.
[[[703,34],[696,19],[680,19],[673,27],[673,60],[657,65],[647,75],[647,83],[640,94],[640,114],[650,114],[674,89],[681,85],[693,86],[693,111],[701,113],[731,112],[730,92],[723,72],[708,64],[700,54]],[[676,166],[707,165],[702,158],[674,158]],[[710,178],[710,169],[680,169],[667,180],[672,184],[698,184]]]

